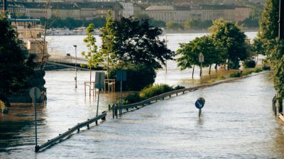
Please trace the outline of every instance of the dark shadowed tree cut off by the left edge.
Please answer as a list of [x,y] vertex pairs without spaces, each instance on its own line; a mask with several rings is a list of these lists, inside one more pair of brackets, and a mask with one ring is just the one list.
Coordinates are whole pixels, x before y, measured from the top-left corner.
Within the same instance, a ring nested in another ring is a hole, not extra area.
[[5,16],[0,17],[0,94],[21,92],[33,76],[33,57],[29,56],[22,41],[16,38]]

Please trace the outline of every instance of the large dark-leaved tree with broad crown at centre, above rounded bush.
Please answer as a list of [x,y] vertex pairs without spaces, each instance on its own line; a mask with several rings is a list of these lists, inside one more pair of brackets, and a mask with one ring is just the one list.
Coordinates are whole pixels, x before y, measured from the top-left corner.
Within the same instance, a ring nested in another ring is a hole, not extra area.
[[161,29],[149,25],[148,20],[121,18],[115,21],[111,61],[161,68],[166,60],[173,60],[174,54],[159,40],[161,33]]

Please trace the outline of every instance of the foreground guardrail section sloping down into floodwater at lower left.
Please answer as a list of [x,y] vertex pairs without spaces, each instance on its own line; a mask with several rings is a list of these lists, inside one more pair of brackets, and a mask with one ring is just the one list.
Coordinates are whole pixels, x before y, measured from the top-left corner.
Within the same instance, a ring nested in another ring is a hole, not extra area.
[[96,116],[92,119],[88,119],[87,121],[84,121],[83,123],[79,123],[76,126],[73,126],[72,128],[69,128],[68,131],[66,131],[65,133],[59,134],[58,137],[53,138],[48,140],[48,142],[43,143],[41,146],[35,146],[35,152],[38,152],[44,148],[48,148],[49,146],[53,146],[55,143],[58,143],[58,141],[62,141],[62,139],[66,138],[67,136],[70,136],[71,133],[73,133],[74,131],[80,131],[80,128],[87,126],[87,128],[89,128],[89,124],[92,124],[94,122],[96,122],[97,125],[97,121],[99,119],[105,120],[107,116],[107,112],[103,112],[101,115]]

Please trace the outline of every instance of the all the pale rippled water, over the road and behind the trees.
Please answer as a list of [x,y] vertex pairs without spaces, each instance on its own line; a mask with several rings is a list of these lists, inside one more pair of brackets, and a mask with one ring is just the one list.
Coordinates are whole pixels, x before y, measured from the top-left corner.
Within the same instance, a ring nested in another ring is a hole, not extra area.
[[[168,34],[168,47],[176,50],[178,43],[205,34]],[[50,48],[71,55],[73,44],[78,45],[78,53],[84,50],[82,38],[48,36]],[[180,71],[174,62],[169,62],[169,69],[167,74],[158,70],[155,82],[186,87],[200,82],[198,73],[196,80],[190,80],[190,70]],[[97,102],[84,97],[83,82],[89,74],[78,72],[78,89],[74,76],[72,70],[46,72],[48,102],[38,106],[39,143],[94,116]],[[267,73],[220,84],[146,106],[121,119],[108,118],[37,154],[33,152],[33,106],[12,106],[8,115],[0,115],[0,158],[282,158],[284,131],[271,111],[274,94]],[[99,112],[116,96],[103,92]],[[193,104],[200,96],[206,104],[198,119]]]

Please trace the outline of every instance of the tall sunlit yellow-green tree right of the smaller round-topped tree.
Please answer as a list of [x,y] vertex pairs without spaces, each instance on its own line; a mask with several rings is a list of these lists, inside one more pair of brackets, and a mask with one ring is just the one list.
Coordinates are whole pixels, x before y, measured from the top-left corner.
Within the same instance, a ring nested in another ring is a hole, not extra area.
[[218,48],[224,48],[224,55],[228,59],[228,70],[239,69],[239,61],[249,57],[247,38],[239,26],[229,21],[218,19],[209,28],[214,44]]

